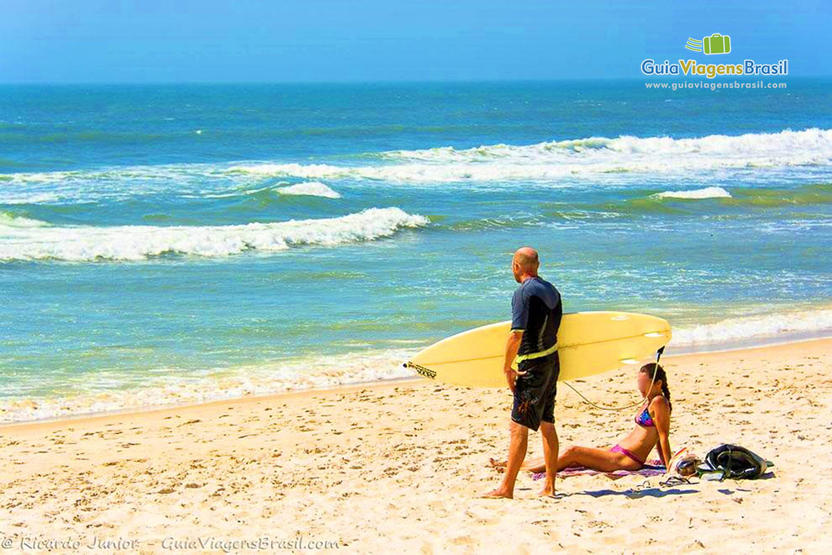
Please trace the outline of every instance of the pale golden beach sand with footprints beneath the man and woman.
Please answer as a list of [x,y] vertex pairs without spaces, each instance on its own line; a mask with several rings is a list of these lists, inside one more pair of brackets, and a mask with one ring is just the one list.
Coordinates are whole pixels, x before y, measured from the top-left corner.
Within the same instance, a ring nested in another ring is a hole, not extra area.
[[[775,463],[769,478],[577,476],[537,498],[522,473],[515,499],[479,499],[500,478],[486,463],[508,446],[508,389],[415,379],[4,426],[0,547],[309,553],[278,543],[300,536],[337,543],[328,553],[825,553],[832,340],[665,362],[672,448],[740,444]],[[634,372],[575,385],[626,404]],[[634,412],[561,387],[562,447],[610,445]],[[529,456],[541,451],[535,435]]]

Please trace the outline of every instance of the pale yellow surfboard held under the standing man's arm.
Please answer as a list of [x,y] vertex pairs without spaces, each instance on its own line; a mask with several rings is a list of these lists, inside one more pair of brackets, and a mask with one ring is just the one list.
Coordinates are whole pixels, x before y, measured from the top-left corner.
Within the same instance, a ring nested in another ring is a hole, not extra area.
[[[442,339],[404,365],[417,374],[467,387],[505,387],[503,357],[511,322],[483,325]],[[671,326],[632,312],[573,312],[557,331],[559,381],[644,364],[671,340]]]

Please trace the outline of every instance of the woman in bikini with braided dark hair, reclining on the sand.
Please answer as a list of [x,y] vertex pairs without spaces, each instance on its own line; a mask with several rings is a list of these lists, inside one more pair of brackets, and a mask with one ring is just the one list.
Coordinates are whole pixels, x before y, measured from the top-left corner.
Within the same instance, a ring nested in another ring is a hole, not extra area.
[[[653,375],[656,378],[654,380]],[[653,386],[650,387],[651,381]],[[671,392],[667,389],[667,376],[659,364],[645,364],[637,377],[638,390],[644,396],[644,404],[636,414],[636,426],[617,444],[608,449],[570,447],[557,458],[557,470],[586,467],[601,472],[613,470],[638,470],[644,466],[647,455],[657,446],[661,463],[667,467],[671,459],[669,439],[671,426]],[[648,390],[648,388],[650,388]],[[490,459],[495,468],[503,468],[505,462]],[[522,464],[531,472],[546,472],[543,458],[527,459]]]

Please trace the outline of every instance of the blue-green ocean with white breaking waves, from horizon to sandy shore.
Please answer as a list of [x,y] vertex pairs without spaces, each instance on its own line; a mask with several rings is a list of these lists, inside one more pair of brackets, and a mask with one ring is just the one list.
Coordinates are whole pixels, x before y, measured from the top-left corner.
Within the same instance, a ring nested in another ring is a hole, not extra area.
[[0,87],[0,420],[408,375],[567,311],[832,334],[832,81]]

